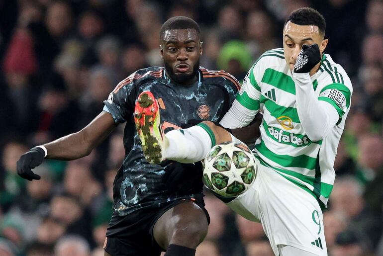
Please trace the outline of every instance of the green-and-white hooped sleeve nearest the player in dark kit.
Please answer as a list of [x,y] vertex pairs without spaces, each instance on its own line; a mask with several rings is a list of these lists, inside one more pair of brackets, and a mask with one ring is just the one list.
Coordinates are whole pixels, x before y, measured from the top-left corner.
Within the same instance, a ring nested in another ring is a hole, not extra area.
[[222,118],[220,124],[227,128],[239,128],[250,124],[259,112],[261,87],[260,63],[254,64],[239,90],[231,108]]

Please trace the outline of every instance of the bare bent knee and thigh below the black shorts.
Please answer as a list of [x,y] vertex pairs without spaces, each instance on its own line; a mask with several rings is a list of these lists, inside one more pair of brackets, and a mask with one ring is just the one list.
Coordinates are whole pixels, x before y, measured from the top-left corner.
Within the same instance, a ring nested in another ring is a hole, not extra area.
[[201,206],[185,201],[167,210],[156,221],[153,237],[164,249],[170,244],[196,247],[206,236],[207,227],[207,216]]

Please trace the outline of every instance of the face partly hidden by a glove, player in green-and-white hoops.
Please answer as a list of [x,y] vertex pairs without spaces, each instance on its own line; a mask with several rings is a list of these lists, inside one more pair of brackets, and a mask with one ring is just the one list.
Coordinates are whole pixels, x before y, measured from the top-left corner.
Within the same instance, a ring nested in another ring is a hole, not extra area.
[[[283,31],[283,48],[288,68],[291,71],[294,69],[296,58],[300,50],[302,50],[302,45],[318,44],[320,55],[322,56],[327,42],[328,39],[323,39],[318,26],[297,25],[288,21]],[[313,70],[316,71],[316,68],[314,67]],[[311,72],[310,75],[312,75]]]

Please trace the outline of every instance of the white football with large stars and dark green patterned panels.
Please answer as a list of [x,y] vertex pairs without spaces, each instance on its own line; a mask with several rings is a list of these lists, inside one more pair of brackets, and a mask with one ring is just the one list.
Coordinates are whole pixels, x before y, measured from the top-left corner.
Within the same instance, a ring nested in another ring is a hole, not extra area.
[[244,193],[256,175],[255,158],[241,143],[230,141],[215,145],[203,161],[203,184],[222,197]]

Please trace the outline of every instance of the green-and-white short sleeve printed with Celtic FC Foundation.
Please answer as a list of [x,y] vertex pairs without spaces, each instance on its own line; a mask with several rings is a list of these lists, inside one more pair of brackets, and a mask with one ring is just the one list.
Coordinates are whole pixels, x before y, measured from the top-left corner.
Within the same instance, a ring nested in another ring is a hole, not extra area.
[[337,124],[341,122],[343,115],[350,108],[351,93],[348,86],[340,83],[325,85],[320,90],[318,100],[326,101],[336,109],[339,115]]

